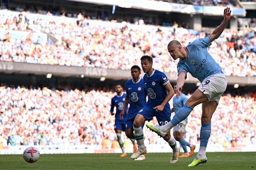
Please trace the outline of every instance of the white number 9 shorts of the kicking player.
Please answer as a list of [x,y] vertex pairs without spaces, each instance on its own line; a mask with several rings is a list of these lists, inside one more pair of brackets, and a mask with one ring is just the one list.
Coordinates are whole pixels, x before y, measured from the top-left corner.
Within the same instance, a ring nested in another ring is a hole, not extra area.
[[221,95],[227,88],[227,79],[223,73],[214,74],[204,79],[198,89],[203,92],[208,101],[216,101],[219,104]]

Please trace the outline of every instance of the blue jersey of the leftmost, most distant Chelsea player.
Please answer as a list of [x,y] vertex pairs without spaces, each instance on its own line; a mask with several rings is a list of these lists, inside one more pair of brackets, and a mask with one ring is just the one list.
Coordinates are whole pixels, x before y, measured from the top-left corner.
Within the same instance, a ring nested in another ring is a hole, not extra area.
[[[121,113],[121,111],[123,110],[123,107],[124,107],[125,96],[126,96],[126,94],[124,92],[122,92],[121,96],[116,95],[111,99],[110,112],[111,113],[114,112],[114,107],[116,106],[116,114],[115,114],[116,120],[119,119],[122,121],[126,121],[126,119],[127,119],[127,114],[124,114],[124,119],[119,118],[119,114]],[[128,109],[128,107],[125,108],[124,113],[126,113],[127,109]]]

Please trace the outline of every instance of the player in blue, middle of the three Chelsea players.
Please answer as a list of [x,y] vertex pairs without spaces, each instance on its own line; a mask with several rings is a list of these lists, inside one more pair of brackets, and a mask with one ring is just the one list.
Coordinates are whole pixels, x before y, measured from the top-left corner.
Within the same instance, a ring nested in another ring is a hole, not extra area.
[[[128,110],[128,117],[126,121],[126,136],[130,139],[135,139],[133,133],[133,122],[140,111],[146,103],[147,103],[147,95],[148,91],[144,85],[143,79],[140,78],[140,67],[137,65],[132,66],[131,68],[131,75],[132,79],[126,81],[125,83],[125,90],[126,90],[126,97],[124,100],[124,107],[122,112],[120,113],[120,119],[123,119],[125,114],[125,108],[130,104]],[[142,125],[143,128],[144,124]],[[133,142],[133,152],[137,151],[137,146],[135,140]],[[145,160],[144,155],[140,155],[137,159],[134,160]]]

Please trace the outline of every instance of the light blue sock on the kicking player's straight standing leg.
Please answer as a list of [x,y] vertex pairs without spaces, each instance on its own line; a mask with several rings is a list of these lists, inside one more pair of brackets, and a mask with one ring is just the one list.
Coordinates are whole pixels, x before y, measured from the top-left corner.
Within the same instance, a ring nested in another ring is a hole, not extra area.
[[202,127],[200,130],[200,148],[197,153],[198,158],[205,158],[206,147],[208,143],[208,139],[211,136],[211,122],[210,123],[202,123]]

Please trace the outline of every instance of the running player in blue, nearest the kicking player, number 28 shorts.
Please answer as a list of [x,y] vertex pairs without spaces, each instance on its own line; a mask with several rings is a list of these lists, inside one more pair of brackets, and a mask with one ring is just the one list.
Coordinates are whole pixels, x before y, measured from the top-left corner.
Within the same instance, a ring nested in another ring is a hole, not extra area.
[[[139,148],[132,154],[131,159],[136,159],[141,154],[147,153],[144,145],[143,130],[141,128],[146,120],[151,120],[156,116],[156,120],[160,125],[164,125],[170,121],[171,109],[168,102],[174,95],[174,91],[166,75],[152,68],[152,57],[144,55],[140,58],[140,62],[143,72],[146,73],[143,80],[148,90],[148,102],[146,106],[139,111],[133,122],[134,135]],[[173,150],[170,163],[176,163],[180,152],[176,140],[174,137],[171,137],[170,131],[163,138]]]

